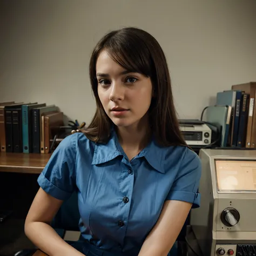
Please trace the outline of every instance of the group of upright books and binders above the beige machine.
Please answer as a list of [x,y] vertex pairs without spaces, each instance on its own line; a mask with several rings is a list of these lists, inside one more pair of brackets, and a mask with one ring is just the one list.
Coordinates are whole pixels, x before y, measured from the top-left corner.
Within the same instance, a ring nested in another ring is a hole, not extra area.
[[207,107],[206,122],[221,127],[221,147],[256,148],[256,82],[232,85]]

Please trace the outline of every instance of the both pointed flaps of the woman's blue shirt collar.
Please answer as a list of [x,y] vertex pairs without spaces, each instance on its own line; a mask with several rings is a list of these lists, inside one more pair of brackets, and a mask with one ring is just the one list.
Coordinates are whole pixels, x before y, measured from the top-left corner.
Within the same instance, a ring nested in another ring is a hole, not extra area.
[[[147,162],[158,172],[165,173],[163,162],[165,158],[166,147],[161,147],[152,137],[149,145],[142,150],[136,158],[145,157]],[[118,156],[125,156],[120,146],[117,134],[112,129],[110,138],[107,143],[96,143],[93,154],[92,165],[103,164]]]

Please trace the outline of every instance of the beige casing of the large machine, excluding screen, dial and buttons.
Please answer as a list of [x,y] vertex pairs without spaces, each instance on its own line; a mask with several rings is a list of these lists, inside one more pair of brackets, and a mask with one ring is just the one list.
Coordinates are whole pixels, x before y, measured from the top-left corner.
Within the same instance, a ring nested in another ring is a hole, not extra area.
[[[256,191],[218,193],[215,173],[215,160],[256,161],[256,151],[203,149],[199,157],[202,164],[201,204],[191,210],[190,224],[203,254],[217,255],[218,244],[256,244]],[[225,226],[220,219],[227,207],[240,213],[240,220],[233,227]]]

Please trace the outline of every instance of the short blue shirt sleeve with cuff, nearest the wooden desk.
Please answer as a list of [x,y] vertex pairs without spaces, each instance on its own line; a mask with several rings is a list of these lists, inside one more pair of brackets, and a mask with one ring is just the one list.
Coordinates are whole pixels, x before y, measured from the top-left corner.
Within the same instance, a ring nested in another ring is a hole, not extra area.
[[37,180],[46,193],[59,200],[68,199],[75,190],[76,138],[72,134],[59,143]]

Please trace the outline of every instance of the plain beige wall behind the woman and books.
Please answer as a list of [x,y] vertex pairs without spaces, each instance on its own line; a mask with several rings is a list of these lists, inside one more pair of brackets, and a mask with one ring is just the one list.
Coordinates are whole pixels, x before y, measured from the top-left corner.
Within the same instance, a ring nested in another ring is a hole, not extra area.
[[56,104],[89,123],[93,46],[137,26],[166,54],[179,118],[199,118],[218,91],[256,80],[254,0],[5,0],[0,2],[0,102]]

